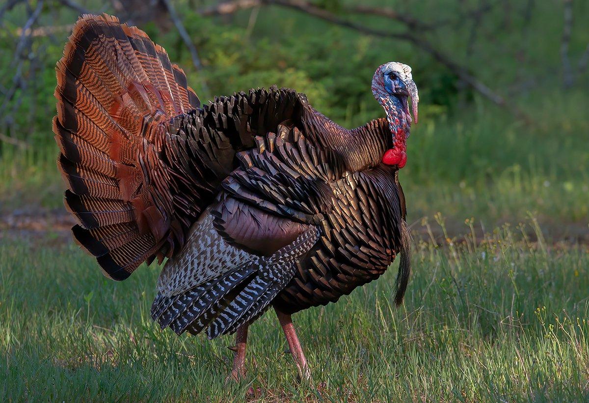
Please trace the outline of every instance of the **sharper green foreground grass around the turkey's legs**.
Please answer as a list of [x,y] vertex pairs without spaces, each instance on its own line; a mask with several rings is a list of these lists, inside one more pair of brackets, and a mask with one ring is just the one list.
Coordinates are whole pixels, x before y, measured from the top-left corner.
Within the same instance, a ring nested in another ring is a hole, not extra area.
[[[72,246],[0,246],[0,395],[20,401],[582,401],[589,398],[589,251],[537,223],[445,247],[421,241],[405,304],[395,268],[294,316],[320,395],[296,379],[276,317],[252,326],[240,384],[233,337],[151,322],[158,270],[102,277]],[[465,227],[468,230],[468,227]],[[256,395],[247,394],[252,386]]]

